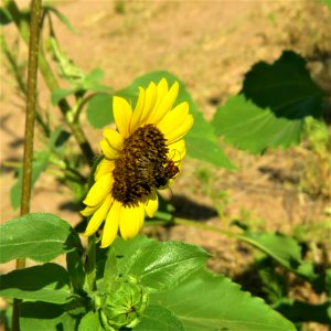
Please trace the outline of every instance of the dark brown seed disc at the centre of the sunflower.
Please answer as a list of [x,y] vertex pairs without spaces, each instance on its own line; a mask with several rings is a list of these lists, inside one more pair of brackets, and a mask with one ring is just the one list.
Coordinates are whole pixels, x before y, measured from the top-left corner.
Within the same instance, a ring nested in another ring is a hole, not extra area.
[[178,173],[178,167],[167,159],[163,134],[149,124],[124,140],[115,161],[111,195],[124,205],[138,205],[152,192],[164,186]]

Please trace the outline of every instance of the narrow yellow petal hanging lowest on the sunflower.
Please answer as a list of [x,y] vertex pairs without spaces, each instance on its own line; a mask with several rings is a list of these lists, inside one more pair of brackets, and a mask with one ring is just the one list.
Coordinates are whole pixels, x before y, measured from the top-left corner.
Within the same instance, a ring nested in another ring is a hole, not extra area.
[[108,247],[116,238],[120,209],[121,203],[115,200],[106,218],[102,237],[102,248]]

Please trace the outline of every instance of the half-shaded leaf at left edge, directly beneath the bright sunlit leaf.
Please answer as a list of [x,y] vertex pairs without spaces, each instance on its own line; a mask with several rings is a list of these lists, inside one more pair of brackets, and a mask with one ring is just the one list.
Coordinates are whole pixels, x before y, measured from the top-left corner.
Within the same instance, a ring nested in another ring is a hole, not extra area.
[[13,270],[1,276],[0,296],[65,303],[71,295],[67,271],[56,264]]

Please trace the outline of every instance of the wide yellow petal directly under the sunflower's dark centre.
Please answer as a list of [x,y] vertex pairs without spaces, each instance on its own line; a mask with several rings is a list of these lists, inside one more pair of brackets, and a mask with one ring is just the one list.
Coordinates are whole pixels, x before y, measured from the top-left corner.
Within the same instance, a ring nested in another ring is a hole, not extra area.
[[139,206],[122,206],[119,217],[119,231],[124,239],[134,238],[142,227],[145,218],[145,207]]

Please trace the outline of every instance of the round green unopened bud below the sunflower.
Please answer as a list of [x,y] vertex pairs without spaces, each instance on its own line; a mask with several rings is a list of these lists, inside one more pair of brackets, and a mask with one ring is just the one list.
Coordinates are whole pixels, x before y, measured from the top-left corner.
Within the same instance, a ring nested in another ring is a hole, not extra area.
[[136,327],[147,302],[146,290],[134,277],[111,282],[105,292],[99,292],[95,298],[100,321],[107,331]]

